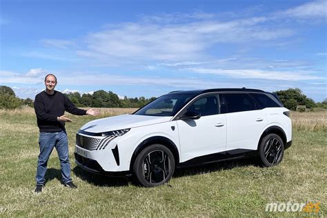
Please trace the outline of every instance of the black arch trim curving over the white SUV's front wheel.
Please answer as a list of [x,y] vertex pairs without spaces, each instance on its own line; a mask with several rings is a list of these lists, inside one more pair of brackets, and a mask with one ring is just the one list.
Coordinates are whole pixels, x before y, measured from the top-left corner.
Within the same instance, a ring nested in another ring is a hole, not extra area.
[[163,146],[166,146],[172,152],[172,155],[174,155],[175,166],[177,166],[177,164],[179,164],[179,152],[178,152],[178,149],[177,149],[177,146],[175,145],[175,143],[172,140],[168,139],[167,137],[155,136],[155,137],[150,137],[148,139],[145,139],[141,143],[139,143],[139,145],[137,146],[137,148],[135,149],[135,151],[132,154],[132,159],[130,160],[130,171],[131,172],[132,172],[132,168],[133,168],[135,159],[136,159],[137,155],[139,155],[141,150],[143,150],[144,148],[151,146],[152,144],[155,144],[155,143],[159,143]]

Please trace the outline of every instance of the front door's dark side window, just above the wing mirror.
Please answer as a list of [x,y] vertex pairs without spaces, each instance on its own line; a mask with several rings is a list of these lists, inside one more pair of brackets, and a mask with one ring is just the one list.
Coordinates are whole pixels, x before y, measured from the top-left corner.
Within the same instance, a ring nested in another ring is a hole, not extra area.
[[217,95],[207,95],[193,102],[187,111],[198,112],[203,116],[219,114],[219,99]]

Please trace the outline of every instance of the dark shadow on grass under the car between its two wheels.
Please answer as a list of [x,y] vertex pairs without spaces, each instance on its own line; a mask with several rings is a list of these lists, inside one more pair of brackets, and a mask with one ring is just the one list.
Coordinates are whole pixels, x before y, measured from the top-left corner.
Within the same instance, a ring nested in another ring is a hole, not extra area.
[[177,168],[173,177],[186,177],[190,175],[207,174],[210,172],[217,172],[222,170],[231,170],[238,167],[258,166],[255,159],[234,159],[227,161],[219,161],[211,164],[201,164],[198,166],[185,166]]

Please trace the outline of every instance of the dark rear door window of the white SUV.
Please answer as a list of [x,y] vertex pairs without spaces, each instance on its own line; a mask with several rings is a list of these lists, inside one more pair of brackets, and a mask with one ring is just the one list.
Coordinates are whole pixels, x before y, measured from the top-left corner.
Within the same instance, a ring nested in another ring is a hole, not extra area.
[[226,112],[241,112],[257,109],[255,101],[246,93],[224,94],[224,98],[221,101],[221,108],[223,107],[226,107]]

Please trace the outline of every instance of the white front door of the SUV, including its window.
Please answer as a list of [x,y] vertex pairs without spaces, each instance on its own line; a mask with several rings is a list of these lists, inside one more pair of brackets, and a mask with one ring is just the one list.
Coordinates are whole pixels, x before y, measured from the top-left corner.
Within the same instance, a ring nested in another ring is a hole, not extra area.
[[226,150],[226,115],[220,114],[218,95],[195,99],[186,111],[199,112],[199,119],[179,119],[181,162]]

